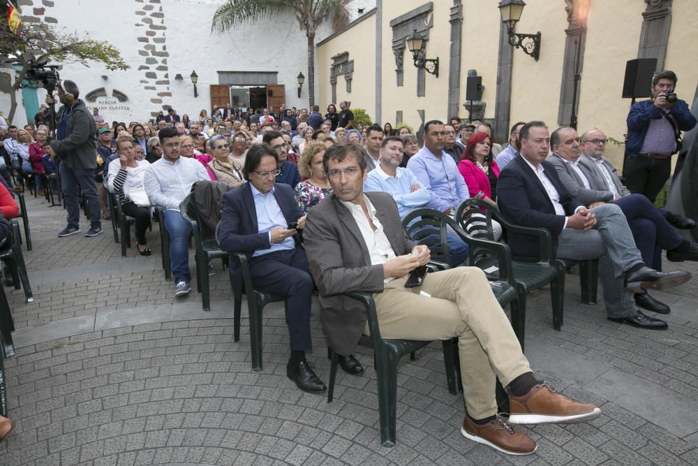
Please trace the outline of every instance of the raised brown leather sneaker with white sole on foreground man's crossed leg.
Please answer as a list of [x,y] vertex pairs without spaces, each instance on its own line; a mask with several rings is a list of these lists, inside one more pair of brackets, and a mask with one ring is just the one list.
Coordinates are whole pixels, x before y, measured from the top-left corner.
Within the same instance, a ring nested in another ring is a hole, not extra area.
[[591,403],[580,403],[558,393],[548,382],[541,382],[526,395],[509,394],[512,424],[576,424],[591,421],[601,415],[601,409]]

